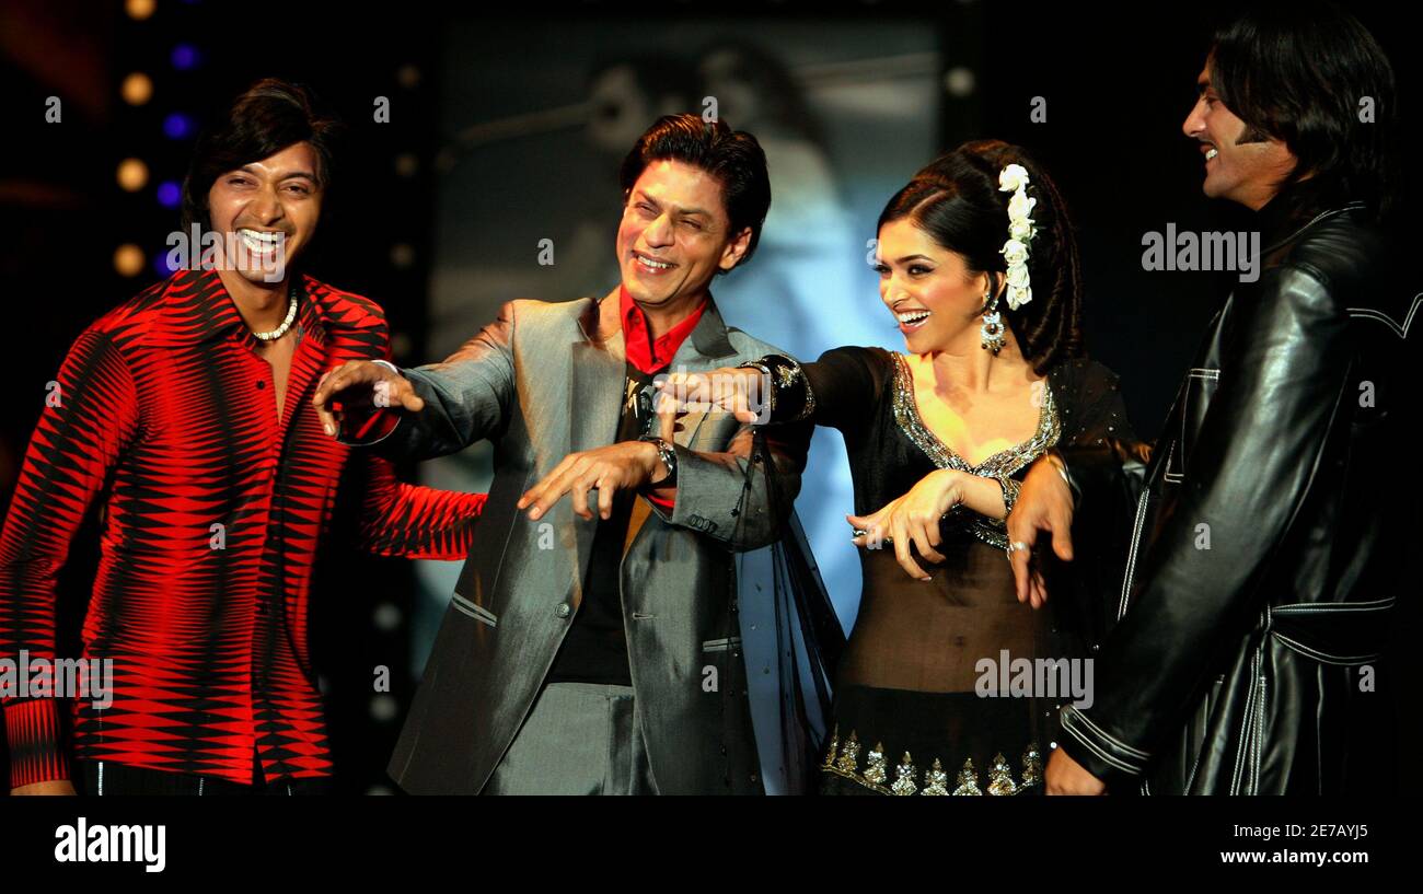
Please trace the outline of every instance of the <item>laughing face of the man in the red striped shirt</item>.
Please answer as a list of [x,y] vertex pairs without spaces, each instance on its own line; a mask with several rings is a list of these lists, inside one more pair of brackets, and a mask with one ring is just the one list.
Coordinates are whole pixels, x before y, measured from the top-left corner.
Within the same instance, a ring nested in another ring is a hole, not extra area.
[[232,256],[225,266],[253,283],[272,283],[316,233],[322,189],[307,142],[228,171],[208,191],[212,229]]

